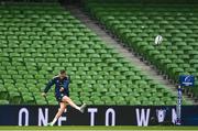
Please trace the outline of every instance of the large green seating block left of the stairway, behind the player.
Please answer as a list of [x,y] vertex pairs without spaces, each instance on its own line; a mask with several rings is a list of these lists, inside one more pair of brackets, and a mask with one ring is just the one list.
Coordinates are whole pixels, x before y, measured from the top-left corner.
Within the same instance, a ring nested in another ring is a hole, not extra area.
[[59,69],[70,76],[70,97],[78,105],[176,103],[169,88],[128,62],[57,3],[0,6],[0,105],[56,105],[54,89],[46,98],[41,92]]

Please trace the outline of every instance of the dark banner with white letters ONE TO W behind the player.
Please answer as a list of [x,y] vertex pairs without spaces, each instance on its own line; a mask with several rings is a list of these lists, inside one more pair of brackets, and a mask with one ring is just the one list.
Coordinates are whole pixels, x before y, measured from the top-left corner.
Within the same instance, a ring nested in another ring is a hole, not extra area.
[[[58,106],[0,106],[0,125],[46,125]],[[85,113],[72,107],[57,125],[155,125],[174,124],[176,107],[88,106]],[[182,107],[182,124],[198,125],[198,106]]]

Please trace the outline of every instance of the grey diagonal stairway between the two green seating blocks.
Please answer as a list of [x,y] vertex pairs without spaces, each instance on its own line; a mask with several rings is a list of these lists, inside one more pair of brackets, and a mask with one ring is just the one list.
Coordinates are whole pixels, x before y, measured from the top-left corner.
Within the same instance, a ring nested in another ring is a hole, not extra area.
[[[91,18],[87,12],[82,11],[84,9],[78,6],[67,6],[66,9],[70,11],[70,13],[80,20],[86,26],[91,29],[97,35],[99,35],[107,44],[117,50],[120,54],[122,54],[127,59],[131,62],[131,64],[139,67],[142,72],[150,75],[155,81],[165,85],[166,88],[169,88],[177,94],[177,86],[170,83],[168,79],[165,79],[162,74],[156,70],[156,68],[152,65],[148,65],[145,61],[142,61],[142,57],[138,56],[135,52],[131,48],[124,46],[124,44],[116,37],[109,30],[107,30],[102,24],[100,24],[95,18]],[[184,95],[186,100],[194,101],[193,98]],[[198,102],[194,101],[194,105]]]

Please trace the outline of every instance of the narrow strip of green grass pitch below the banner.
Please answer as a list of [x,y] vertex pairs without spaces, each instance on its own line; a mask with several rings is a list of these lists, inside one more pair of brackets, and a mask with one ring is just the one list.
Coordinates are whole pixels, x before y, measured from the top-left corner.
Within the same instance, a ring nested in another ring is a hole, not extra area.
[[7,131],[198,131],[198,127],[84,127],[84,125],[63,125],[63,127],[0,127],[0,130]]

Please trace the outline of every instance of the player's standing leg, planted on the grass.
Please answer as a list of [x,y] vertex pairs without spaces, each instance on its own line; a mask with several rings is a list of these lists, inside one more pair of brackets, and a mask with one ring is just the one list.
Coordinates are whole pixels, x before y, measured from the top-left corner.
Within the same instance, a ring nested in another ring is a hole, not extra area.
[[53,121],[50,123],[50,125],[54,125],[54,123],[58,120],[58,118],[63,114],[63,112],[66,109],[66,102],[59,102],[59,109],[56,113],[56,116],[54,117]]

